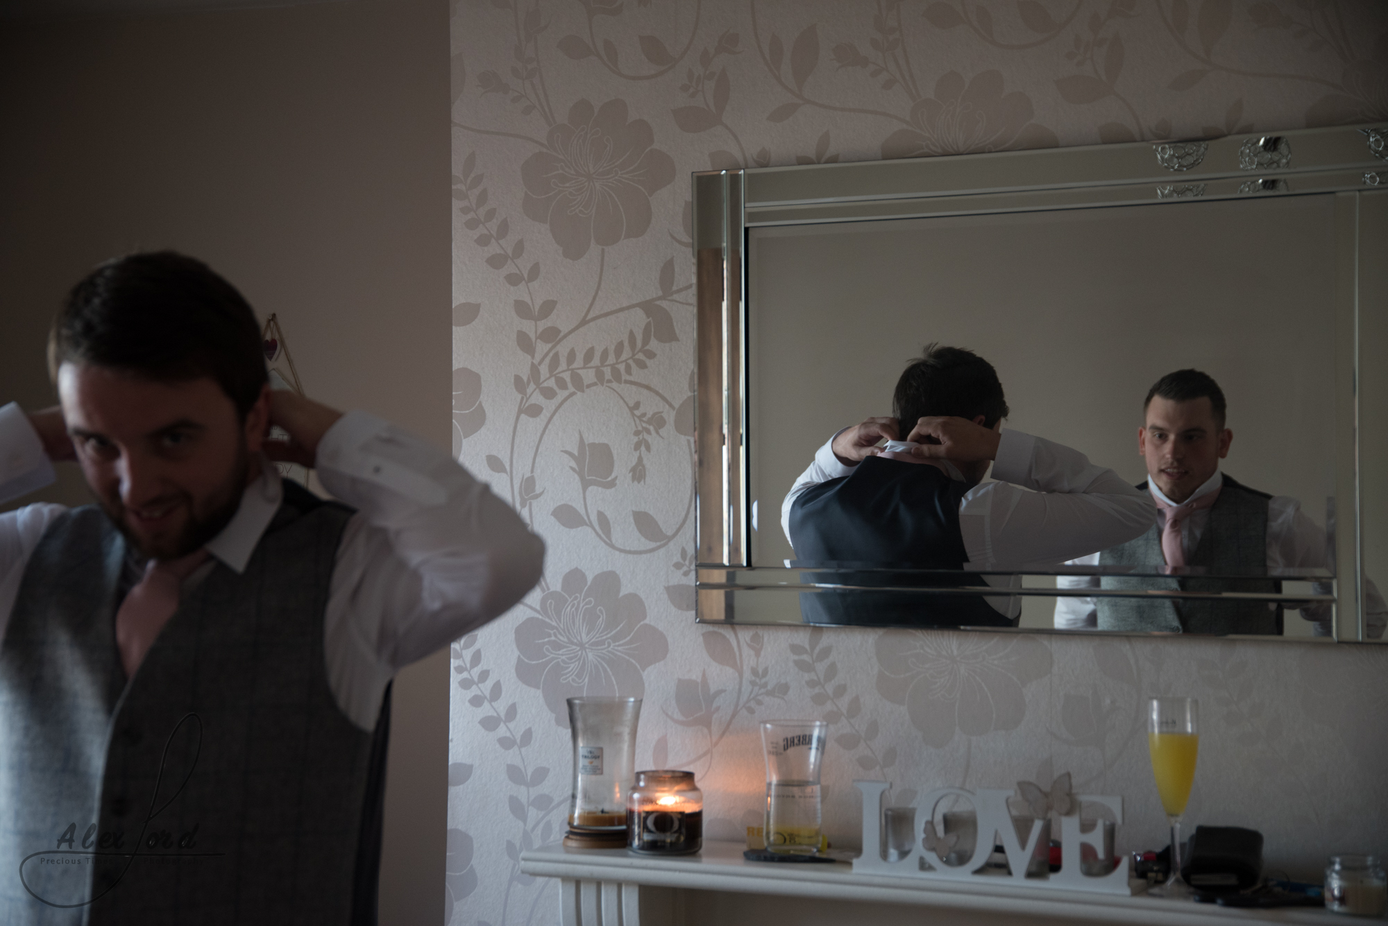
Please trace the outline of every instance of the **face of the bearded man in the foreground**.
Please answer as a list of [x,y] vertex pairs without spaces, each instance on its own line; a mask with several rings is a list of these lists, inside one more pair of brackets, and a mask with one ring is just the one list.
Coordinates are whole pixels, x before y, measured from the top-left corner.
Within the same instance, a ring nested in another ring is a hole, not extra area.
[[226,527],[255,475],[264,396],[243,420],[215,380],[157,383],[81,363],[58,369],[58,396],[87,485],[144,556],[176,559]]

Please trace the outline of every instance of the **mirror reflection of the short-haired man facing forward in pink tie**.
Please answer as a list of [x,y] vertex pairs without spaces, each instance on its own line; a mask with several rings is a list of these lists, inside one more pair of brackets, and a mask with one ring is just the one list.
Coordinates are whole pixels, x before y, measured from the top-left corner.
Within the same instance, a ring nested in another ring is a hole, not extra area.
[[[1127,543],[1074,560],[1080,566],[1199,567],[1210,575],[1266,577],[1264,570],[1323,568],[1326,531],[1301,503],[1269,495],[1220,470],[1233,431],[1226,427],[1224,392],[1199,370],[1167,373],[1148,391],[1138,428],[1138,452],[1148,480],[1138,485],[1159,509],[1158,524]],[[1280,592],[1276,578],[1060,577],[1060,588]],[[1316,584],[1328,593],[1328,582]],[[1370,632],[1382,634],[1385,607],[1366,582]],[[1330,635],[1331,604],[1301,609],[1317,636]],[[1283,632],[1283,609],[1269,602],[1152,600],[1142,597],[1056,599],[1055,625],[1066,629],[1162,631],[1171,634]],[[1377,632],[1374,632],[1377,631]]]

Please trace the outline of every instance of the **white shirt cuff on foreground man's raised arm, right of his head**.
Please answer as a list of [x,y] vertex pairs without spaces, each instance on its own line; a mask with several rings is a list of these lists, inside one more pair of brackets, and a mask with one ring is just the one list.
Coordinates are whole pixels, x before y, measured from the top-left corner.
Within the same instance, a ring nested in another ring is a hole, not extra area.
[[344,475],[380,485],[421,505],[443,505],[448,493],[439,482],[394,459],[394,453],[379,445],[400,444],[407,438],[408,435],[375,414],[347,412],[318,442],[314,457],[318,478],[329,492],[348,503],[353,503],[353,493],[347,481],[340,478]]

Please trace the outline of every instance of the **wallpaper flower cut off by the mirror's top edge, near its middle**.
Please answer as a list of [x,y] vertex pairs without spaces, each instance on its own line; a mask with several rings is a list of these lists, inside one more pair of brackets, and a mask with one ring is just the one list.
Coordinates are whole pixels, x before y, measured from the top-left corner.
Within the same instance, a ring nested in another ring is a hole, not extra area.
[[1055,132],[1031,122],[1031,97],[1004,93],[1002,72],[984,71],[965,83],[958,71],[936,82],[936,94],[911,107],[915,128],[898,129],[881,143],[883,158],[1053,148]]

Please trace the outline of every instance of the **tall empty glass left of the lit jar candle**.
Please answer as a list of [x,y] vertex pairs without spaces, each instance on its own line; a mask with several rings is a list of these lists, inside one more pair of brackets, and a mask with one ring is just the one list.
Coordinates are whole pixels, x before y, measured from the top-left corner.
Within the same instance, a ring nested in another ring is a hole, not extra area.
[[636,772],[640,697],[570,697],[573,794],[569,826],[577,833],[620,833],[626,841],[626,797]]

